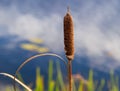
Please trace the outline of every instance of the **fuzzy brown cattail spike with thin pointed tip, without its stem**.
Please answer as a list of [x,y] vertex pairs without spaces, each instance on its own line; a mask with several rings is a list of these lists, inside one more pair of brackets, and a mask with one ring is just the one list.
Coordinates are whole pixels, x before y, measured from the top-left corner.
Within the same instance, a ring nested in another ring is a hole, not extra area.
[[64,17],[64,45],[66,57],[69,61],[74,58],[74,29],[73,20],[70,15],[69,7],[68,12]]

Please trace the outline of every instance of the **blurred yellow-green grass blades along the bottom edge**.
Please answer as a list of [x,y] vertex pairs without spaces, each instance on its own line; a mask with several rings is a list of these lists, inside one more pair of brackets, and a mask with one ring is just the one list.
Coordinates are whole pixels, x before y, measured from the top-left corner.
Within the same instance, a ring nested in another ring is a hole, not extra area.
[[[103,91],[105,86],[108,86],[108,91],[120,91],[119,88],[119,78],[114,77],[113,71],[110,72],[111,80],[106,82],[104,79],[101,79],[99,85],[98,82],[93,79],[93,71],[89,71],[88,80],[85,80],[80,74],[73,75],[73,91]],[[19,74],[18,78],[22,81],[22,77]],[[76,85],[77,84],[77,85]],[[108,85],[105,85],[108,84]],[[6,91],[14,91],[11,90],[12,87],[6,87]],[[17,91],[21,91],[17,88]],[[26,91],[26,90],[24,90]],[[53,62],[50,61],[48,68],[48,87],[44,85],[44,78],[40,74],[40,68],[36,69],[36,82],[35,88],[33,91],[68,91],[68,83],[63,80],[62,72],[59,63],[57,63],[57,77],[56,80],[53,80]],[[105,91],[105,90],[104,90]]]

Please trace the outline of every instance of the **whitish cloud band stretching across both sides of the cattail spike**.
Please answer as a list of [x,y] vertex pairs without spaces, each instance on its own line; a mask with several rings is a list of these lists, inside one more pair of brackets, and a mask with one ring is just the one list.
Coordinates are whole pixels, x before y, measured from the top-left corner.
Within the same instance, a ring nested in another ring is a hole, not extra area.
[[[86,2],[79,12],[71,11],[75,25],[76,55],[90,58],[110,56],[120,60],[120,13],[118,0],[99,3]],[[63,16],[36,17],[34,14],[20,13],[17,8],[0,9],[0,25],[8,27],[8,32],[21,39],[40,37],[53,51],[63,51]],[[84,54],[83,54],[84,49]],[[103,64],[105,61],[99,62]]]

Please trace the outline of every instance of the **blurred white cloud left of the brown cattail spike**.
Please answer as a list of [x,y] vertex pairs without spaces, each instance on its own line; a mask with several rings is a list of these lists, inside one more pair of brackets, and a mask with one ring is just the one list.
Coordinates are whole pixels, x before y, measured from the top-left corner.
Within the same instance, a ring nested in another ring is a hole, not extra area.
[[14,8],[9,8],[9,12],[0,9],[0,25],[4,25],[8,29],[6,32],[1,32],[2,34],[15,34],[21,39],[42,38],[51,50],[61,51],[61,48],[63,48],[61,45],[63,20],[60,15],[52,14],[49,17],[38,18],[30,13],[22,14]]

